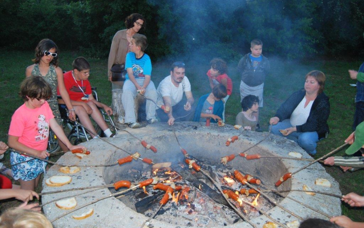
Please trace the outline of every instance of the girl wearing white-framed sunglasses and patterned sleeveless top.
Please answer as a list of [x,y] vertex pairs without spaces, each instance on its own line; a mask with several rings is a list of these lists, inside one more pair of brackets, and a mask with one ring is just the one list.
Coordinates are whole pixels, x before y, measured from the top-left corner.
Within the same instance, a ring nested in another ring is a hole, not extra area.
[[[62,125],[61,114],[58,109],[57,102],[57,87],[59,88],[62,99],[69,111],[68,118],[72,121],[76,120],[75,109],[71,104],[69,95],[67,93],[65,82],[63,80],[62,69],[58,67],[58,47],[50,39],[42,39],[35,48],[34,64],[27,67],[25,70],[25,76],[40,76],[46,80],[52,89],[52,95],[47,100],[50,108],[52,109],[55,120],[59,125]],[[66,145],[58,140],[58,144],[63,151],[68,151]]]

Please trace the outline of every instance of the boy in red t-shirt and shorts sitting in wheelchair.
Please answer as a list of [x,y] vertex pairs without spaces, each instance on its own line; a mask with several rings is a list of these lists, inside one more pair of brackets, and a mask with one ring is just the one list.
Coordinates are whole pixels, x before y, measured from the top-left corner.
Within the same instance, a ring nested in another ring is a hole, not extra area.
[[[106,137],[115,136],[107,126],[98,107],[103,108],[109,115],[113,114],[113,110],[109,106],[98,102],[92,96],[91,85],[88,81],[88,77],[90,76],[90,64],[85,58],[78,57],[73,61],[72,68],[73,70],[64,74],[65,87],[81,124],[90,131],[97,133],[88,116],[91,115],[92,119],[94,119],[103,130]],[[60,104],[62,104],[62,102],[60,102]],[[90,131],[88,131],[88,133],[92,138],[95,138],[96,135],[93,135]]]

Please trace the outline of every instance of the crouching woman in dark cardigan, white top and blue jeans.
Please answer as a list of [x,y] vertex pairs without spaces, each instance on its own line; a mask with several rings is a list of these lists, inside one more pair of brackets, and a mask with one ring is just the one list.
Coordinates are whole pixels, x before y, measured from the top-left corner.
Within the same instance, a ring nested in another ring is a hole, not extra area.
[[316,154],[317,142],[329,133],[330,102],[323,92],[325,80],[323,72],[309,72],[304,89],[293,93],[269,121],[273,134],[297,142],[309,154]]

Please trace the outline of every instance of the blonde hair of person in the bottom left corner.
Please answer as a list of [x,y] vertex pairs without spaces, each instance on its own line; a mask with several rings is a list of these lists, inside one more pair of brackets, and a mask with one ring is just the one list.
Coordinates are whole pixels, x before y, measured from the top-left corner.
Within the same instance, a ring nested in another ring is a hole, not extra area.
[[0,216],[0,228],[53,228],[44,214],[12,208]]

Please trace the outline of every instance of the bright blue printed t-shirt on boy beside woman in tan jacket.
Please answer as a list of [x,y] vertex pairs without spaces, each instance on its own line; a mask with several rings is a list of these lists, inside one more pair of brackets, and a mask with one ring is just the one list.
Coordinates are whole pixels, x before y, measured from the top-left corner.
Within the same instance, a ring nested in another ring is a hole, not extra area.
[[[145,75],[151,75],[151,61],[149,55],[144,53],[142,57],[136,58],[135,53],[127,53],[125,61],[125,69],[132,68],[132,74],[135,78],[145,78]],[[126,80],[129,75],[126,74]]]

